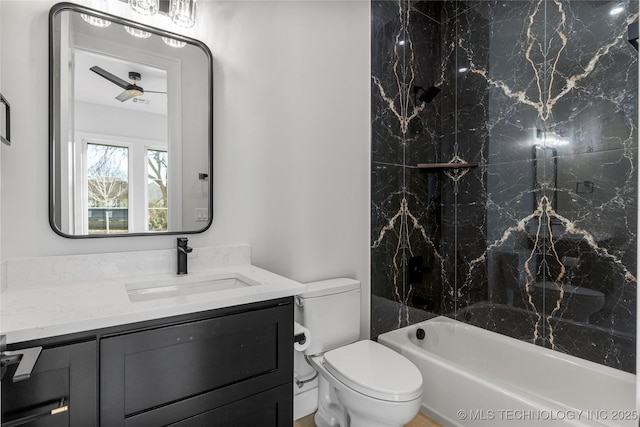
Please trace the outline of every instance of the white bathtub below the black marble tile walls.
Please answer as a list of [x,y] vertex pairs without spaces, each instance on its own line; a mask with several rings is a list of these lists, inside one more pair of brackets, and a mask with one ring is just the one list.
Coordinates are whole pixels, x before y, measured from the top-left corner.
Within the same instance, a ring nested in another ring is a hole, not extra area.
[[627,372],[442,316],[378,340],[418,366],[422,411],[445,426],[638,426]]

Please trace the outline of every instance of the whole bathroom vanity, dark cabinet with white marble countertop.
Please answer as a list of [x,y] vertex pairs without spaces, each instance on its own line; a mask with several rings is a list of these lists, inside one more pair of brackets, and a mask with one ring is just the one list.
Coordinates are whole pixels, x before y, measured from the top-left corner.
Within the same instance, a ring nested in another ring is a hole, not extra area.
[[[306,287],[244,262],[248,247],[198,251],[186,277],[118,265],[148,253],[8,261],[7,350],[42,351],[28,379],[13,382],[17,365],[6,367],[2,425],[292,425],[293,296]],[[112,279],[85,282],[85,264]],[[160,286],[148,296],[150,283]]]

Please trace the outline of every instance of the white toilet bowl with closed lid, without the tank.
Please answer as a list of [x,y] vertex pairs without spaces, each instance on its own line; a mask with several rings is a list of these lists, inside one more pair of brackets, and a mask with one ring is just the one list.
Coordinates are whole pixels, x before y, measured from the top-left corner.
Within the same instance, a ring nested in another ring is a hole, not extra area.
[[422,374],[377,342],[358,341],[311,363],[320,375],[318,427],[400,427],[420,410]]

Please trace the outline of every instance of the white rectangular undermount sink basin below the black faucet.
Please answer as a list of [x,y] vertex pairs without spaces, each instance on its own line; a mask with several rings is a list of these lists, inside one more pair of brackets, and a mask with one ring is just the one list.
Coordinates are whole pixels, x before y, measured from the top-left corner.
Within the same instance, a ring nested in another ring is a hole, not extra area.
[[129,301],[142,302],[259,285],[260,283],[242,274],[229,273],[216,276],[178,276],[165,280],[128,283],[125,288]]

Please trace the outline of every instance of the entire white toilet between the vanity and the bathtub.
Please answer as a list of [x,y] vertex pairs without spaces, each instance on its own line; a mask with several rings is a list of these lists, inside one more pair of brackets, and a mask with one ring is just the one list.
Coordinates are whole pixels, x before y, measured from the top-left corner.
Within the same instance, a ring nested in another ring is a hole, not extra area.
[[296,321],[310,331],[305,359],[318,373],[318,427],[400,427],[420,410],[422,374],[399,353],[360,336],[360,282],[307,284]]

